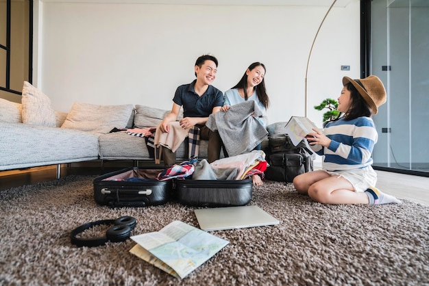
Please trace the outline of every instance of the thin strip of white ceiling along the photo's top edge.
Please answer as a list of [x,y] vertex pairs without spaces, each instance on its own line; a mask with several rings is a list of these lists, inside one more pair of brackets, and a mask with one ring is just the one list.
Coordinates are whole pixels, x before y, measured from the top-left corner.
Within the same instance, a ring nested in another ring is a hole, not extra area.
[[[333,0],[41,0],[60,3],[143,3],[173,5],[264,5],[330,6]],[[336,0],[334,7],[345,7],[352,0]]]

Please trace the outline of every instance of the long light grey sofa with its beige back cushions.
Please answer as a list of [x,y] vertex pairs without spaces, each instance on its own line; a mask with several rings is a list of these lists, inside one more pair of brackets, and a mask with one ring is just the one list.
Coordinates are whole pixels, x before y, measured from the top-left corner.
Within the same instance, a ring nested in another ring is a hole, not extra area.
[[[25,82],[22,103],[0,99],[0,171],[82,161],[154,161],[145,138],[115,127],[156,127],[169,111],[144,105],[93,105],[73,103],[69,113],[56,112],[49,98]],[[278,125],[269,125],[275,133]],[[266,150],[268,140],[262,142]],[[208,141],[201,140],[199,158],[207,158]],[[184,142],[177,161],[188,159]],[[221,153],[223,157],[223,153]],[[162,163],[161,163],[162,164]]]

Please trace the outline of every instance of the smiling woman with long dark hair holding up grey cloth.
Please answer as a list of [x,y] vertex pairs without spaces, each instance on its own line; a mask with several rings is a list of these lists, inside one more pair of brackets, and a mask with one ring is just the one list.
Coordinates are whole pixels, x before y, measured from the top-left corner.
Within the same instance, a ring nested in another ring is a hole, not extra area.
[[[265,73],[267,69],[265,65],[260,62],[254,62],[245,71],[240,81],[227,90],[223,96],[223,107],[221,111],[227,112],[231,105],[243,103],[245,101],[255,101],[258,107],[262,111],[264,116],[267,114],[267,108],[269,107],[269,97],[265,90]],[[262,125],[266,126],[265,119],[258,118]],[[255,150],[260,150],[260,144],[256,146]],[[255,174],[252,176],[254,185],[262,185],[262,179]]]

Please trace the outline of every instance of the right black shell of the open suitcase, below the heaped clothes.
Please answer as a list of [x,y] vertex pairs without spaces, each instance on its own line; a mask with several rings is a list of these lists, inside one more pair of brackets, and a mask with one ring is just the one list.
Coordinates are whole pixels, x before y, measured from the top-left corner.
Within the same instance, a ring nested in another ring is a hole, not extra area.
[[230,207],[246,205],[252,199],[253,181],[177,180],[175,197],[179,203],[194,207]]

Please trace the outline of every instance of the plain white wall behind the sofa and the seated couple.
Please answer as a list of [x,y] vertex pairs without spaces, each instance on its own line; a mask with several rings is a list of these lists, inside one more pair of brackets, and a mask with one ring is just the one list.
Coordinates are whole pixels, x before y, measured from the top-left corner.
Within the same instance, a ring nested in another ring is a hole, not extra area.
[[[196,58],[219,60],[213,85],[231,88],[252,62],[267,66],[269,123],[304,116],[308,53],[329,5],[154,5],[38,2],[34,78],[56,110],[74,101],[170,109],[177,86],[195,79]],[[360,75],[360,4],[335,6],[323,23],[308,70],[312,106],[336,99],[344,75]],[[350,65],[350,71],[341,71]],[[108,116],[108,114],[106,114]]]

